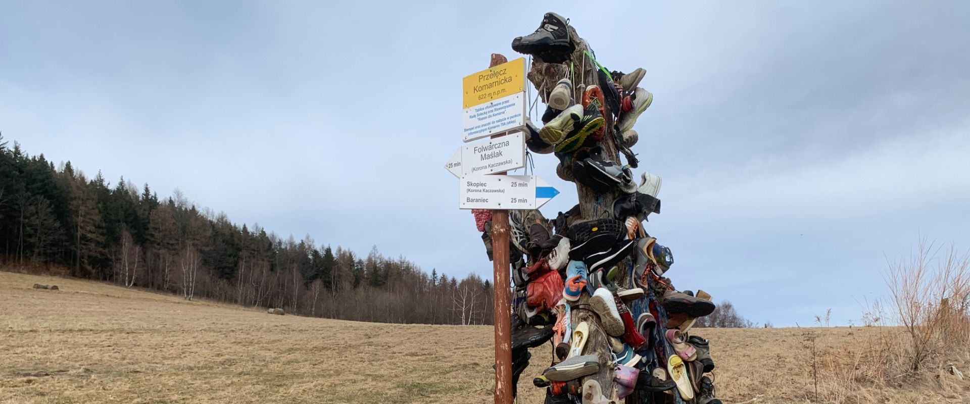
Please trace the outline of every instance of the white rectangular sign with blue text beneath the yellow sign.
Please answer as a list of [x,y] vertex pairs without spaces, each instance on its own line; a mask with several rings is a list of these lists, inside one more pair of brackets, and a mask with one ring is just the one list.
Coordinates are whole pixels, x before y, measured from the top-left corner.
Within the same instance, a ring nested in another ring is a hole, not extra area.
[[526,125],[526,93],[517,92],[462,112],[465,141],[514,131]]

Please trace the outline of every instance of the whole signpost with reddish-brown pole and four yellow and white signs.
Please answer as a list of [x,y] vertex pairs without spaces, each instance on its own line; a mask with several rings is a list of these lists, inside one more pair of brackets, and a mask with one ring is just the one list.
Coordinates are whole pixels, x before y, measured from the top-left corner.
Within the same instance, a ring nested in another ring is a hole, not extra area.
[[[512,403],[508,209],[536,209],[559,194],[525,167],[526,60],[492,53],[490,67],[462,79],[462,140],[444,168],[459,178],[459,208],[492,210],[496,404]],[[513,133],[518,132],[518,133]],[[488,138],[482,140],[482,138]],[[474,141],[473,141],[474,140]],[[470,142],[469,142],[470,141]]]

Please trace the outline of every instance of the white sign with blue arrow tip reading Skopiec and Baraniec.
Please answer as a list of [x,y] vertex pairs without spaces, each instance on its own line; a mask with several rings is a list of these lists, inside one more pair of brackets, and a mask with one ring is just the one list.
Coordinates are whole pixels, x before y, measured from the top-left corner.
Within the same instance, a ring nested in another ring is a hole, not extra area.
[[459,180],[461,209],[538,209],[559,195],[535,175],[469,175]]

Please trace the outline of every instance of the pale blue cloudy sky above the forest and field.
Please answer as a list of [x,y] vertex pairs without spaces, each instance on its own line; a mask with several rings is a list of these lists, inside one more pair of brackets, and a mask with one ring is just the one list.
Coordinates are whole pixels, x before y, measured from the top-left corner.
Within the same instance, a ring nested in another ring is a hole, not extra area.
[[[443,169],[461,78],[554,11],[647,71],[635,172],[663,177],[646,227],[678,289],[857,324],[921,237],[970,249],[970,3],[591,4],[0,0],[0,131],[237,223],[490,278]],[[533,157],[553,218],[575,187]]]

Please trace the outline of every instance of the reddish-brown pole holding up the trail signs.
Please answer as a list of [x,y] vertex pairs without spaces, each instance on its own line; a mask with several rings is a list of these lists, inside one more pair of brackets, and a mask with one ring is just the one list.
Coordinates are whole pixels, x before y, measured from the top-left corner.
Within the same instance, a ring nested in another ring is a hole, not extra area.
[[[489,67],[496,67],[507,62],[508,59],[499,53],[492,53]],[[492,137],[498,138],[496,137]],[[504,174],[504,172],[498,172]],[[508,210],[492,210],[492,263],[493,276],[493,310],[495,313],[495,404],[512,403],[512,324],[511,313],[511,285],[508,272],[510,268],[508,257],[509,244]]]

